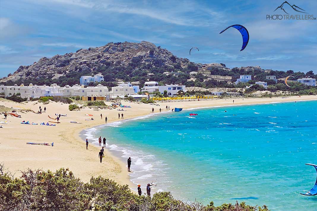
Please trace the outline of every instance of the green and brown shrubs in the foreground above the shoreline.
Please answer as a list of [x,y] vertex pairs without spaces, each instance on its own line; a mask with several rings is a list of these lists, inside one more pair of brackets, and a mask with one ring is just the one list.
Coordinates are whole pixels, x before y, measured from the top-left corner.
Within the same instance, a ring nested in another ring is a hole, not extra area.
[[[145,190],[145,187],[142,187]],[[268,211],[268,208],[213,202],[182,202],[170,192],[155,193],[152,198],[132,193],[128,185],[120,185],[104,177],[92,177],[88,183],[75,178],[68,169],[55,172],[30,170],[14,178],[0,164],[0,211]]]

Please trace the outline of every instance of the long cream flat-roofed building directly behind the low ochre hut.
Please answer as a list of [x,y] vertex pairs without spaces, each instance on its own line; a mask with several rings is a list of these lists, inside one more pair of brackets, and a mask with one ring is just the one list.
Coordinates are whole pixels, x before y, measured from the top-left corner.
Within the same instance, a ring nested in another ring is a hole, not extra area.
[[98,84],[97,86],[88,86],[75,84],[73,86],[66,85],[60,92],[63,96],[106,96],[109,95],[107,86]]

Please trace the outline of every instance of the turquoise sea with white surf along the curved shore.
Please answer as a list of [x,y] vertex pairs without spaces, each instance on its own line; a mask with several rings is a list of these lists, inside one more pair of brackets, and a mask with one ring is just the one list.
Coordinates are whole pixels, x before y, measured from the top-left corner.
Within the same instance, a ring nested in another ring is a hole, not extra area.
[[143,192],[153,181],[153,192],[181,200],[317,210],[317,196],[300,195],[316,181],[305,163],[317,163],[317,101],[164,112],[85,135],[106,137],[125,162],[131,157],[131,179]]

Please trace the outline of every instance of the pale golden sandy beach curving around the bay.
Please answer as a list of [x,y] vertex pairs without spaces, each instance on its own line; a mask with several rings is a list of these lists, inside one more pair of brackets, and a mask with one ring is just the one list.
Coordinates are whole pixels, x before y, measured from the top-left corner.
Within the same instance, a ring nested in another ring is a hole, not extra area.
[[[232,102],[234,100],[234,104]],[[290,96],[286,98],[273,97],[273,98],[229,98],[229,99],[208,99],[203,101],[191,101],[191,102],[158,102],[159,106],[153,106],[150,104],[136,103],[136,102],[124,102],[124,105],[130,105],[132,108],[127,109],[124,112],[124,119],[131,119],[138,116],[148,115],[151,112],[152,107],[155,109],[155,113],[159,113],[159,109],[165,112],[166,105],[172,108],[201,108],[201,107],[213,107],[213,106],[231,106],[231,105],[244,105],[244,104],[260,104],[271,102],[290,102],[299,100],[317,100],[317,96]],[[111,102],[106,102],[111,104]],[[79,136],[80,132],[84,129],[91,128],[97,125],[105,123],[105,117],[108,118],[108,123],[114,121],[122,121],[118,119],[117,109],[102,109],[96,111],[85,107],[80,111],[69,111],[69,104],[62,104],[57,102],[50,102],[43,105],[35,101],[15,103],[3,100],[0,98],[0,106],[8,108],[24,108],[32,109],[34,111],[39,110],[39,106],[47,108],[46,113],[35,114],[33,112],[18,112],[22,118],[16,118],[8,116],[8,124],[1,124],[3,128],[0,128],[0,162],[9,168],[11,172],[16,172],[15,176],[20,176],[19,170],[27,168],[31,169],[43,169],[55,171],[61,167],[69,168],[73,171],[75,177],[80,177],[83,181],[89,181],[94,176],[99,175],[113,179],[120,184],[128,184],[132,187],[133,183],[130,181],[127,174],[126,163],[123,163],[120,158],[117,158],[109,150],[105,150],[105,158],[100,164],[98,152],[100,147],[89,144],[88,150],[84,140]],[[53,126],[42,126],[41,122],[54,121],[48,118],[48,115],[55,118],[55,113],[67,114],[66,117],[61,117],[60,124]],[[92,114],[94,121],[85,121],[89,118],[85,114]],[[100,119],[100,114],[103,118]],[[1,115],[1,120],[4,116]],[[21,121],[35,122],[39,125],[24,125],[20,124]],[[70,121],[81,122],[82,124],[73,124]],[[111,134],[109,134],[111,136]],[[106,137],[107,138],[107,137]],[[93,142],[96,140],[88,140]],[[52,143],[51,146],[38,146],[27,145],[26,142],[37,143]],[[131,166],[133,171],[133,165]]]

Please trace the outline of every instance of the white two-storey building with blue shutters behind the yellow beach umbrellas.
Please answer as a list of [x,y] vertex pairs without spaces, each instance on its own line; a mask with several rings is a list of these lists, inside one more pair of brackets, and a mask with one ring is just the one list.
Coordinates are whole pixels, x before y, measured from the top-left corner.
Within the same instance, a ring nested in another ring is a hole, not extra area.
[[149,81],[144,83],[144,87],[141,89],[142,92],[156,92],[159,91],[161,94],[164,94],[164,91],[167,91],[168,96],[176,95],[179,90],[186,92],[185,85],[178,84],[165,84],[164,86],[159,86],[159,83],[156,81]]

